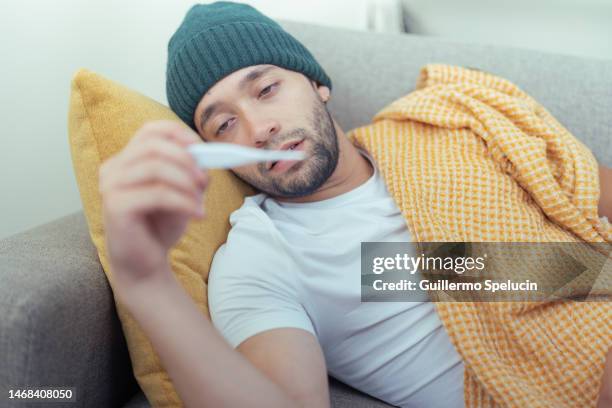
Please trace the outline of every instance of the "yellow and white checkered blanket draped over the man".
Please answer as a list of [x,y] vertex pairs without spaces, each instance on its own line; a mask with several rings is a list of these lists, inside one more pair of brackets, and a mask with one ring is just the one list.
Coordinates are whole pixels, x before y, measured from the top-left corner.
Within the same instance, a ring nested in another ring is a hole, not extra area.
[[[417,242],[612,242],[591,152],[511,82],[427,65],[347,135],[376,160]],[[612,303],[438,302],[470,407],[595,406]]]

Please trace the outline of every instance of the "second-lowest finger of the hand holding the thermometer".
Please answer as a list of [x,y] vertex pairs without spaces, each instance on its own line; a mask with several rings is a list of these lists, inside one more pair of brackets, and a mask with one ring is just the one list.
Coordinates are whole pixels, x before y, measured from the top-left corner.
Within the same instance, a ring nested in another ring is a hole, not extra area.
[[115,187],[125,189],[151,183],[164,184],[196,198],[199,198],[204,190],[200,180],[191,172],[172,162],[159,159],[135,162],[127,166]]

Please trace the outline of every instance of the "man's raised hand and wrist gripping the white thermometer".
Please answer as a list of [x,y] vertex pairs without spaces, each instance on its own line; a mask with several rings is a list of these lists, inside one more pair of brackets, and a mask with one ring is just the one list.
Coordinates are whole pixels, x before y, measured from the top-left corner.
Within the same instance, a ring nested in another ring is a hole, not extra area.
[[185,149],[199,141],[178,122],[149,122],[101,166],[106,245],[121,286],[167,273],[169,249],[203,216],[208,177]]

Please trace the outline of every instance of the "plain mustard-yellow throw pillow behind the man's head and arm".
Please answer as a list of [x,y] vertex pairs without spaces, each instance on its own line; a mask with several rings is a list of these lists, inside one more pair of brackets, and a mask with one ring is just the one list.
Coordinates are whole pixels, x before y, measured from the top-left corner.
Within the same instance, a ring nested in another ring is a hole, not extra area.
[[[85,69],[74,75],[71,86],[68,132],[72,162],[89,233],[112,287],[98,192],[100,164],[121,150],[145,122],[180,119],[168,107]],[[229,215],[245,195],[254,193],[229,171],[211,171],[210,176],[204,204],[206,218],[192,222],[171,252],[177,279],[207,317],[206,283],[212,257],[227,238]],[[127,310],[120,303],[116,305],[134,375],[149,402],[154,407],[182,406],[151,343]]]

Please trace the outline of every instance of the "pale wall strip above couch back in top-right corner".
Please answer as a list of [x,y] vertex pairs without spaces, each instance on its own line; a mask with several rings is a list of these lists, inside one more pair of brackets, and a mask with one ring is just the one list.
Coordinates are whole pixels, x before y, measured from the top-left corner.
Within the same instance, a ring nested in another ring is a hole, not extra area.
[[612,59],[612,0],[401,0],[410,31]]

